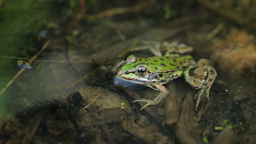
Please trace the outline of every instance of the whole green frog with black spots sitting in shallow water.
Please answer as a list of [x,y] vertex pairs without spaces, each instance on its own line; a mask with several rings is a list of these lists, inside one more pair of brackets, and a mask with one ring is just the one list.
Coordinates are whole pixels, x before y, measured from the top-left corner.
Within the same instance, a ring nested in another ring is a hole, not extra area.
[[[184,48],[186,47],[182,46],[182,49]],[[205,93],[207,99],[210,99],[209,91],[217,77],[217,72],[210,64],[210,61],[202,58],[195,62],[190,55],[181,56],[179,52],[182,53],[184,50],[179,50],[179,47],[174,48],[174,50],[176,54],[149,58],[137,58],[131,54],[124,59],[123,63],[120,63],[119,68],[116,70],[116,77],[121,80],[141,84],[160,91],[158,96],[152,100],[134,100],[133,102],[146,103],[140,110],[162,102],[169,95],[168,89],[163,84],[181,76],[184,77],[189,86],[199,90],[195,95],[197,97],[196,110],[203,93]],[[189,47],[189,50],[193,49]]]

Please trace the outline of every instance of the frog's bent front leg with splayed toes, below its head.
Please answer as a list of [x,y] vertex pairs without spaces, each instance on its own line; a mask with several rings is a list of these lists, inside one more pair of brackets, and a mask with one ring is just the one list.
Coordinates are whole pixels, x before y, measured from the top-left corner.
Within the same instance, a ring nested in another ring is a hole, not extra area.
[[140,108],[140,110],[143,110],[147,106],[155,105],[155,104],[162,102],[162,100],[164,100],[166,98],[166,96],[168,96],[168,94],[169,94],[169,91],[167,90],[167,88],[165,88],[162,84],[147,84],[145,86],[148,86],[150,88],[158,90],[158,91],[160,91],[160,93],[153,100],[146,100],[146,99],[134,100],[133,102],[147,102],[147,104],[142,106],[142,108]]

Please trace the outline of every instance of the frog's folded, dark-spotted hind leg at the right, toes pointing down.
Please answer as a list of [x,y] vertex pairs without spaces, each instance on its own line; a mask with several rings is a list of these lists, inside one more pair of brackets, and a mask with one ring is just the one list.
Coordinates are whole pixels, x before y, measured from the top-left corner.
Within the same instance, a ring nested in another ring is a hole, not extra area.
[[184,71],[184,78],[186,82],[195,89],[201,89],[196,94],[196,109],[198,108],[203,92],[206,92],[206,97],[210,99],[209,91],[216,77],[216,70],[210,65],[209,60],[204,58],[200,59],[196,65],[190,65]]

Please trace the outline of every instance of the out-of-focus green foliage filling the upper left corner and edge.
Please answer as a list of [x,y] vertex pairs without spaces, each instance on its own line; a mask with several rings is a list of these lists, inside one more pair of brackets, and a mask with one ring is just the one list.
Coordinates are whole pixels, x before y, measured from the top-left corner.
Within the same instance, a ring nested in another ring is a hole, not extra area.
[[[0,89],[19,70],[17,59],[12,56],[30,58],[26,51],[35,48],[50,4],[50,0],[0,0]],[[0,106],[5,103],[4,95]]]

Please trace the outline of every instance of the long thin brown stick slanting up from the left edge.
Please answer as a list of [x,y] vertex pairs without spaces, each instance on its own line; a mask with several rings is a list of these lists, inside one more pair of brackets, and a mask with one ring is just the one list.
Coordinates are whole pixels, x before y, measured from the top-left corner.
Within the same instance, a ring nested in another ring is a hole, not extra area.
[[[50,38],[41,48],[41,50],[39,52],[37,52],[37,54],[35,54],[30,61],[28,62],[29,64],[31,64],[48,46],[49,44],[54,40],[54,38],[56,38],[58,35],[60,35],[66,28],[74,25],[76,22],[78,22],[82,17],[83,17],[83,9],[81,10],[80,13],[78,13],[76,15],[76,19],[72,22],[70,22],[67,26],[64,26],[62,29],[58,30],[54,36],[52,38]],[[23,67],[13,78],[12,80],[10,80],[10,82],[8,82],[8,84],[6,84],[6,86],[4,86],[4,88],[2,88],[2,90],[0,91],[0,96],[4,93],[4,91],[14,82],[14,80],[16,80],[20,74],[22,74],[22,72],[24,72],[24,70],[26,70],[26,67]]]

